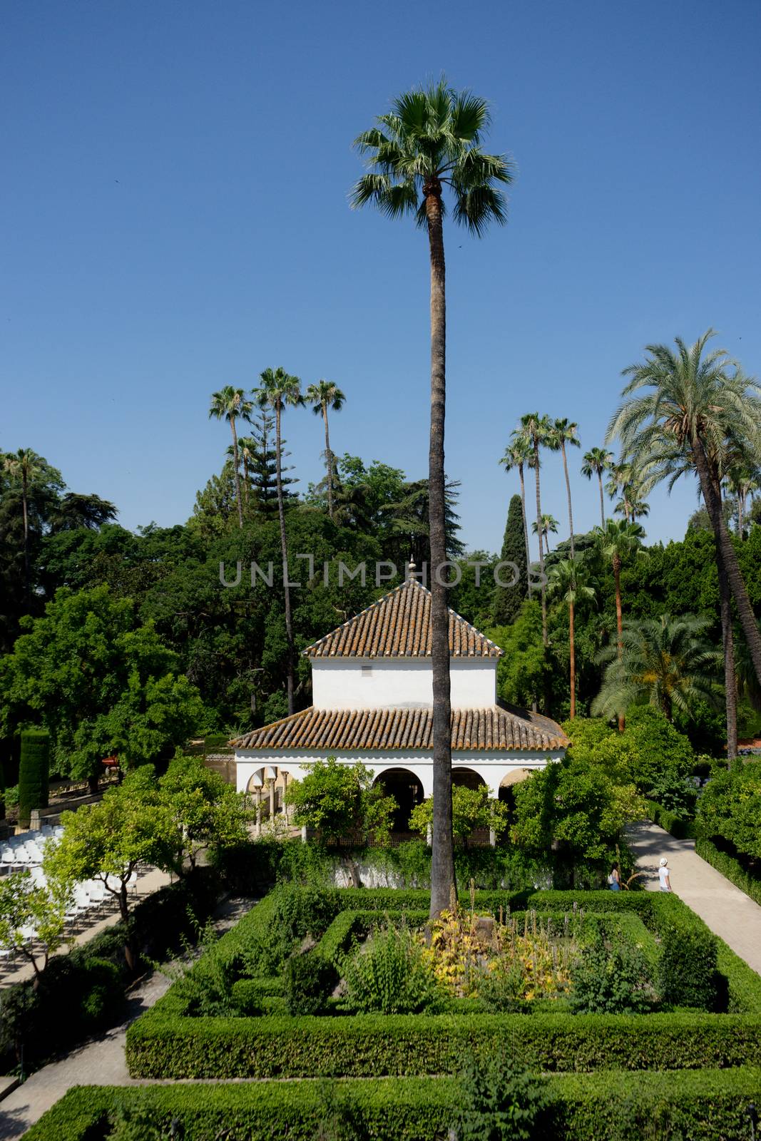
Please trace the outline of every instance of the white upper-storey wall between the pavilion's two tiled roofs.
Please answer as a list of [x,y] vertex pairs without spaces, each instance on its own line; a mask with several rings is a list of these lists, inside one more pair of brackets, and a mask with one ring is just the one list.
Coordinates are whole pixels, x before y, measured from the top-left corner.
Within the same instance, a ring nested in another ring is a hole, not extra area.
[[[370,666],[371,673],[363,673]],[[496,699],[496,658],[450,658],[453,709],[484,709]],[[418,709],[432,705],[430,658],[316,658],[313,705],[321,710]]]

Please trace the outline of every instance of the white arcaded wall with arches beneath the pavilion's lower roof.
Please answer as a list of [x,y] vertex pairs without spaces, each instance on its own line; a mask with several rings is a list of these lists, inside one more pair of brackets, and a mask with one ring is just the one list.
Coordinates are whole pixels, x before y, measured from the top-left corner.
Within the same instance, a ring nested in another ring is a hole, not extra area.
[[[492,796],[497,795],[497,790],[505,776],[515,772],[516,769],[543,769],[553,761],[561,760],[565,750],[557,750],[552,753],[523,752],[520,750],[486,753],[486,752],[459,752],[452,754],[452,769],[473,769],[488,785]],[[277,752],[265,753],[260,750],[240,748],[235,753],[237,762],[237,791],[252,791],[258,776],[265,767],[270,769],[285,770],[296,779],[301,779],[307,772],[303,764],[311,761],[325,760],[335,755],[330,751],[321,753],[308,753],[305,750],[284,748]],[[408,769],[420,780],[426,796],[434,794],[434,764],[430,753],[402,751],[399,750],[357,750],[350,754],[338,758],[347,764],[362,761],[369,769],[379,777],[386,769]],[[251,782],[251,788],[249,783]]]

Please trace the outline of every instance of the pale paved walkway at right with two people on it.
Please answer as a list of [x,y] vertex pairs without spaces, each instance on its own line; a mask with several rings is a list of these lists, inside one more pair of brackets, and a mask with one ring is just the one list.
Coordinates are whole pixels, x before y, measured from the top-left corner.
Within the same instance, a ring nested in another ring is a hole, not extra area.
[[647,873],[645,887],[658,890],[658,861],[665,856],[674,893],[761,974],[761,907],[701,859],[694,840],[675,840],[645,820],[628,828],[626,840],[637,866]]

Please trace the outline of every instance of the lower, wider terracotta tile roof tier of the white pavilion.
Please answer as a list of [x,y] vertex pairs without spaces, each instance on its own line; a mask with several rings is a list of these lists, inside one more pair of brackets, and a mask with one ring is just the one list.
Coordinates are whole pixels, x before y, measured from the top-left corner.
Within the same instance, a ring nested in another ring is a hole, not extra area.
[[[426,709],[317,710],[310,706],[232,742],[236,748],[347,751],[364,748],[431,750],[432,711]],[[452,748],[565,748],[568,738],[549,718],[492,705],[452,711]]]

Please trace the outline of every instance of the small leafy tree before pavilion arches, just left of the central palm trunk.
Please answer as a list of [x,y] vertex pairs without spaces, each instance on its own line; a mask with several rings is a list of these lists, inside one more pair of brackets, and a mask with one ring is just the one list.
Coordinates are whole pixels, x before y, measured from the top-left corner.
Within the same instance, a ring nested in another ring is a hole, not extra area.
[[373,784],[372,769],[362,761],[341,764],[334,756],[305,768],[307,776],[293,780],[285,791],[285,802],[293,806],[294,824],[315,828],[323,840],[356,836],[362,843],[372,836],[377,844],[388,843],[398,806]]

